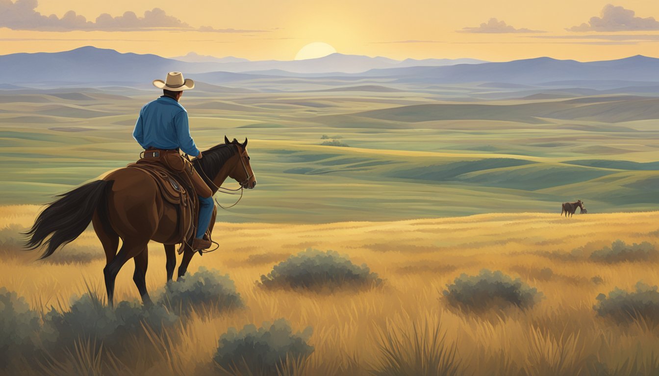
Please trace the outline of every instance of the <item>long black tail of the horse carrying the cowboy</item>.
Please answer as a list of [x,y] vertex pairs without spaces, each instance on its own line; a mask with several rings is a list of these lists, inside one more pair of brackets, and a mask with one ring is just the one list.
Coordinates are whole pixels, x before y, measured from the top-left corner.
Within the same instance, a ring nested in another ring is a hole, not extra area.
[[88,227],[94,211],[105,207],[105,202],[101,200],[104,201],[105,193],[112,187],[113,182],[96,180],[57,196],[60,199],[43,209],[32,228],[24,232],[24,235],[28,236],[25,248],[35,250],[47,246],[39,257],[44,259],[52,255],[59,246],[72,242]]

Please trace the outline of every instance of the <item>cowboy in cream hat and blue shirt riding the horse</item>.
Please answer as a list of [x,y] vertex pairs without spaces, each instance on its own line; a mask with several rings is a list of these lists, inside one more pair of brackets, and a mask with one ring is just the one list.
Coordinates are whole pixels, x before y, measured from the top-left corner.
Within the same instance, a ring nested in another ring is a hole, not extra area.
[[189,78],[184,80],[181,72],[169,72],[165,81],[154,80],[153,84],[163,90],[163,95],[142,107],[132,136],[144,148],[145,155],[148,152],[157,156],[159,162],[170,169],[179,173],[185,170],[190,175],[199,198],[199,217],[192,249],[206,250],[211,246],[210,240],[204,238],[204,234],[208,230],[215,207],[212,192],[194,169],[185,168],[188,162],[179,154],[181,149],[198,159],[203,157],[190,136],[188,112],[179,103],[183,90],[194,88],[194,81]]

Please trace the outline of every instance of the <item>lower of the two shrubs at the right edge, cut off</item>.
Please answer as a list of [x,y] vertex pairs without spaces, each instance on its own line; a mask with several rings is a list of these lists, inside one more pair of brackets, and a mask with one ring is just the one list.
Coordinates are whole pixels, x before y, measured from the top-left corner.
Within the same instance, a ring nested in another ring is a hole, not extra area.
[[636,284],[635,292],[615,288],[607,297],[599,294],[598,303],[592,309],[602,317],[624,323],[635,319],[645,319],[659,323],[659,292],[657,286],[648,286],[643,282]]

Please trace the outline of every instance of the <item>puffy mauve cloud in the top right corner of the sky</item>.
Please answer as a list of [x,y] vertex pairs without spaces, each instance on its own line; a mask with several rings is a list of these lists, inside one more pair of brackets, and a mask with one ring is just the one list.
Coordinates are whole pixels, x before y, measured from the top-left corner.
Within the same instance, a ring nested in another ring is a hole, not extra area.
[[631,30],[659,30],[659,21],[654,17],[636,17],[635,12],[623,7],[607,4],[602,9],[601,17],[591,17],[588,24],[572,26],[569,32],[619,32]]

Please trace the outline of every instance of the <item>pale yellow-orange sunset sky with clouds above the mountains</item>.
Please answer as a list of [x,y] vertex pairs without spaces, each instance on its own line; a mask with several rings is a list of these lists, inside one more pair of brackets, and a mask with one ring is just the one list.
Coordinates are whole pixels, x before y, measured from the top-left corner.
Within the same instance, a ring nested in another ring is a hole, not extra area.
[[659,1],[0,0],[0,55],[94,45],[293,60],[312,42],[399,60],[659,57]]

